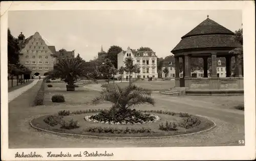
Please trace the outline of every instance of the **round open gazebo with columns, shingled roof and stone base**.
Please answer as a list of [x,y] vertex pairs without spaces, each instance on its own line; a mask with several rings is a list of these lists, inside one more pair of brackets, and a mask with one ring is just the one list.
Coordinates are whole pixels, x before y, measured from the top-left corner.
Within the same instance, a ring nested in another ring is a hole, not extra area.
[[[207,19],[189,33],[171,51],[175,55],[175,87],[187,90],[236,90],[243,89],[242,68],[237,55],[230,50],[241,47],[233,40],[234,33],[217,22]],[[226,59],[226,77],[217,76],[217,58]],[[236,77],[231,77],[231,58],[236,60]],[[179,58],[183,61],[183,77],[179,75]],[[203,58],[203,77],[191,77],[191,58]],[[208,77],[207,59],[211,58],[212,73]]]

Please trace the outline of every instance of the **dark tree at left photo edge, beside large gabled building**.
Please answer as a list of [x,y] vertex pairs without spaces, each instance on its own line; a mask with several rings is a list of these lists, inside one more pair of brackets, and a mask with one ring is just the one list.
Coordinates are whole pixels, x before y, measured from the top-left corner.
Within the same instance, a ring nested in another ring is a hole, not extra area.
[[8,29],[8,64],[16,65],[19,63],[19,43],[18,39],[14,38]]

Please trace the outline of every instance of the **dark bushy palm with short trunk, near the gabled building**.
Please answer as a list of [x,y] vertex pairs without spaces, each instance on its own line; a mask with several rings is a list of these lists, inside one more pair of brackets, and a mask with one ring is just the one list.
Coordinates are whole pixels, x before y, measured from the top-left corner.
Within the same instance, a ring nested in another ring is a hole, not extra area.
[[74,84],[76,83],[77,78],[81,76],[95,81],[86,66],[84,66],[79,60],[71,58],[61,60],[57,63],[56,68],[49,72],[46,79],[62,78],[68,84],[67,90],[68,88],[72,88],[72,91],[74,91]]

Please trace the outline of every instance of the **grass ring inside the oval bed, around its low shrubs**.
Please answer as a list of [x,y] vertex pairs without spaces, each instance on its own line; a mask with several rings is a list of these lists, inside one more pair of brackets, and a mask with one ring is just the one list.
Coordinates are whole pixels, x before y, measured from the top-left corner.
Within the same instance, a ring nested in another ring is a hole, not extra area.
[[[86,115],[93,115],[96,113],[91,113],[91,114],[80,114],[80,115],[70,115],[70,116],[64,116],[63,120],[68,121],[70,119],[74,119],[74,121],[78,120],[79,122],[79,128],[76,129],[62,129],[60,128],[61,125],[56,125],[54,127],[46,124],[44,122],[45,116],[36,118],[32,120],[32,124],[36,127],[42,128],[42,129],[47,129],[50,131],[55,131],[55,132],[62,132],[62,133],[73,133],[73,134],[78,134],[78,135],[89,135],[89,136],[98,136],[98,137],[161,137],[161,136],[172,136],[172,135],[180,135],[180,134],[185,134],[185,133],[191,133],[191,132],[197,132],[200,130],[207,129],[209,127],[212,127],[214,125],[213,122],[209,121],[206,118],[201,118],[198,117],[201,121],[201,124],[198,126],[185,129],[183,127],[178,126],[176,131],[162,131],[159,130],[159,124],[164,123],[166,121],[168,122],[180,122],[182,118],[179,116],[170,116],[170,115],[165,115],[165,114],[156,114],[159,117],[161,117],[160,121],[154,122],[154,123],[147,123],[147,124],[136,124],[136,125],[121,125],[121,124],[102,124],[102,123],[94,123],[94,122],[88,122],[84,121],[83,118]],[[155,113],[153,113],[155,114]],[[126,127],[130,128],[151,128],[153,132],[151,133],[133,133],[133,134],[116,134],[116,133],[94,133],[94,132],[87,132],[84,131],[84,129],[90,127],[90,126],[101,126],[102,128],[104,127],[113,127],[113,128],[122,128],[125,129]]]

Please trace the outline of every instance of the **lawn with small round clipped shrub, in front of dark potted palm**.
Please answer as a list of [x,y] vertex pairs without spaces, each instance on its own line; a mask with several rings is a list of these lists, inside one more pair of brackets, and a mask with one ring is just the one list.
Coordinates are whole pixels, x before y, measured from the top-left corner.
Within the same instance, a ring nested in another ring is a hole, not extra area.
[[[53,87],[47,87],[48,84],[51,84]],[[62,104],[83,104],[92,102],[92,99],[100,95],[98,91],[92,91],[86,88],[83,88],[85,84],[78,84],[78,88],[75,88],[75,91],[67,91],[66,83],[45,83],[45,98],[44,104],[61,104],[52,102],[52,96],[55,94],[62,94],[65,97],[65,102]]]

